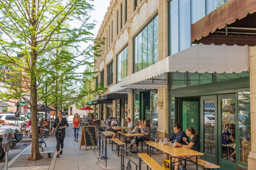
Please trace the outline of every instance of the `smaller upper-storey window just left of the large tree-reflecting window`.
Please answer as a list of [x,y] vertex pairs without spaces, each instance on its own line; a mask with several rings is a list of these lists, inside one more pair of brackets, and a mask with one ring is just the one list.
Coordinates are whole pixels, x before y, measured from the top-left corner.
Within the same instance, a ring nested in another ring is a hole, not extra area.
[[116,59],[117,82],[120,82],[121,78],[128,75],[128,45],[117,55]]

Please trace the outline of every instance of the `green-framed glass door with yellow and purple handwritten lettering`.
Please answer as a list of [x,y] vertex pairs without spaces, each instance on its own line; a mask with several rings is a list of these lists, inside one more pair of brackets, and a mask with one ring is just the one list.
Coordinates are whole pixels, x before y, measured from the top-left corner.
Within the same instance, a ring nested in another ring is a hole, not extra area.
[[[235,94],[218,95],[218,160],[221,169],[236,169],[236,96]],[[238,134],[238,133],[237,133]]]

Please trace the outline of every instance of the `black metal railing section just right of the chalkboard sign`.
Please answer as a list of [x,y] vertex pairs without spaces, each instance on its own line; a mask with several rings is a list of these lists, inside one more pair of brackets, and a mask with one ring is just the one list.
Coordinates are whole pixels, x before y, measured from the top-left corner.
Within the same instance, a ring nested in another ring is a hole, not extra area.
[[107,136],[100,132],[99,130],[96,130],[96,143],[98,144],[98,147],[94,147],[99,152],[100,159],[103,159],[106,163],[105,167],[107,167]]

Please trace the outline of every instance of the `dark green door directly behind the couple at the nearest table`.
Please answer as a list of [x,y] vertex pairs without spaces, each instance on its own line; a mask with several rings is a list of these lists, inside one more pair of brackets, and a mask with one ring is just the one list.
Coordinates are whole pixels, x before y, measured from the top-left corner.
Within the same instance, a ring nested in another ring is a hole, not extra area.
[[179,98],[179,123],[181,130],[193,127],[199,133],[200,98]]

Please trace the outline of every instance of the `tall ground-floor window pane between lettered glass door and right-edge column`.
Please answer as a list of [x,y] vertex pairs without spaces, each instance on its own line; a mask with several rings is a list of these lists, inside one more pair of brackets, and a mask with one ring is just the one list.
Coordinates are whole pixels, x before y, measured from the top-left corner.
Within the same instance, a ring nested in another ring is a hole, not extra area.
[[238,92],[239,162],[248,163],[251,151],[250,92]]

